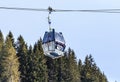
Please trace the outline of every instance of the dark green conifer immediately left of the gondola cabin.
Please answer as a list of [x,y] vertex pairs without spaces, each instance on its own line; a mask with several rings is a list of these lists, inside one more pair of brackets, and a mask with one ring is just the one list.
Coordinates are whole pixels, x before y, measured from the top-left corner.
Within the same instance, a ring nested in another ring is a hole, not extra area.
[[47,66],[46,59],[44,56],[44,52],[42,49],[42,41],[39,40],[33,49],[33,59],[32,63],[32,82],[47,82],[48,74],[47,74]]

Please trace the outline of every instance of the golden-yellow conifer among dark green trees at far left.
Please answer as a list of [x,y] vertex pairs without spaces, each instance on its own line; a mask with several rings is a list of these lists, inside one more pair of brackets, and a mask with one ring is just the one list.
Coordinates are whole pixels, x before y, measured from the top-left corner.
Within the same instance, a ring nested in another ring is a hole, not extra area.
[[1,53],[1,66],[3,67],[1,73],[2,82],[18,82],[20,76],[20,72],[18,71],[19,61],[9,36],[6,38],[5,45]]

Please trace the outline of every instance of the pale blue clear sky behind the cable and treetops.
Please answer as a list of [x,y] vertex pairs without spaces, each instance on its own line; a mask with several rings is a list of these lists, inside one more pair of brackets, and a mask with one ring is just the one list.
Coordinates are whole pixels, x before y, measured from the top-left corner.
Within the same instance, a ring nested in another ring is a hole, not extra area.
[[[53,9],[120,8],[119,0],[1,0],[0,6]],[[48,30],[47,12],[0,10],[0,29],[12,31],[15,39],[21,34],[34,44]],[[61,31],[67,47],[84,60],[92,54],[109,82],[120,82],[120,14],[52,13],[52,27]]]

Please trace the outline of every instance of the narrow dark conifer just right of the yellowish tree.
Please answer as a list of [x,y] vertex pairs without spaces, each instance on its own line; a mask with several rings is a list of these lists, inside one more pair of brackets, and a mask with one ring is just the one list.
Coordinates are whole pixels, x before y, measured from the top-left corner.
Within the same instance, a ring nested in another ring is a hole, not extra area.
[[27,57],[28,49],[27,44],[25,43],[23,37],[20,35],[16,44],[17,56],[19,57],[20,67],[19,71],[21,72],[20,79],[22,82],[27,82]]

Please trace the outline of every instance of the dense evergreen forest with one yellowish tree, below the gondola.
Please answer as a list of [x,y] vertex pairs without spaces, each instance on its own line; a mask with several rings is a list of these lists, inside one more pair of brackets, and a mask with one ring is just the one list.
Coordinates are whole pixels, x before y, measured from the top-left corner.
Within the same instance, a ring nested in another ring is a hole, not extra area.
[[64,56],[51,59],[44,55],[42,39],[27,45],[20,35],[15,42],[12,32],[4,39],[0,31],[0,82],[108,82],[92,55],[76,59],[69,48]]

